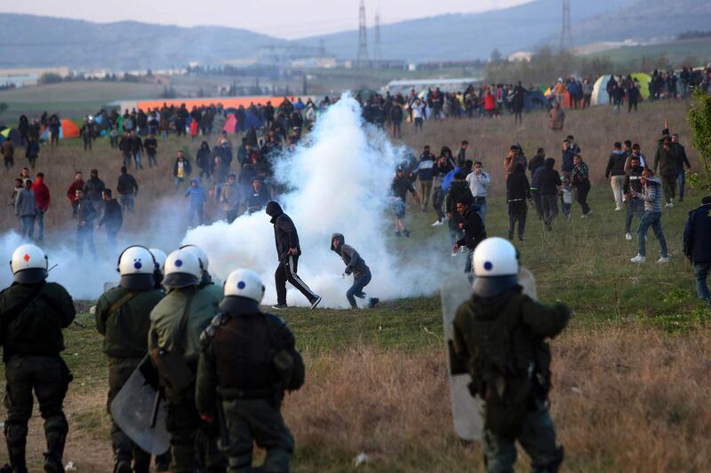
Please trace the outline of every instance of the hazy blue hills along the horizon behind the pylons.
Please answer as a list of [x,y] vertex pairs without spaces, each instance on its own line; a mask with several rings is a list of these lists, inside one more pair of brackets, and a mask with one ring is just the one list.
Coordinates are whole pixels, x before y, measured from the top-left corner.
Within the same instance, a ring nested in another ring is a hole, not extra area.
[[[383,59],[487,59],[494,49],[506,55],[545,44],[557,46],[561,17],[560,0],[534,0],[503,10],[383,25]],[[672,38],[708,29],[711,2],[571,0],[571,24],[575,45]],[[338,59],[355,59],[358,42],[357,30],[287,41],[276,37],[278,30],[262,35],[236,28],[180,28],[135,21],[100,24],[11,13],[0,13],[0,31],[5,40],[0,68],[67,66],[122,71],[184,67],[191,61],[212,65],[252,59],[263,45],[318,46],[322,40],[325,50]],[[368,37],[372,59],[372,28]]]

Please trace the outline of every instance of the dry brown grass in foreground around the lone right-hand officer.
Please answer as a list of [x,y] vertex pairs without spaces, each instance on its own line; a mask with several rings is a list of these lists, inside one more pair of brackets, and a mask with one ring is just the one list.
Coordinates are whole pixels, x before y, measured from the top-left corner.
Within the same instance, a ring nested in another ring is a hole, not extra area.
[[[554,343],[552,412],[569,471],[703,471],[711,463],[711,336],[668,337],[630,325],[574,327]],[[300,471],[481,469],[480,449],[451,429],[443,351],[357,346],[307,357],[287,399]],[[525,455],[520,457],[527,462]]]

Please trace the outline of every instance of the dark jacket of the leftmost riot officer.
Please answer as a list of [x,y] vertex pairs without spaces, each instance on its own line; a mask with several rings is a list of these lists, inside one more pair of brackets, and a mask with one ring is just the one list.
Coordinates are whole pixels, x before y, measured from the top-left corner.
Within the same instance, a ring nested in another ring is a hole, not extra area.
[[12,355],[59,356],[64,350],[61,329],[76,311],[67,290],[44,280],[12,283],[0,293],[0,343],[3,359]]

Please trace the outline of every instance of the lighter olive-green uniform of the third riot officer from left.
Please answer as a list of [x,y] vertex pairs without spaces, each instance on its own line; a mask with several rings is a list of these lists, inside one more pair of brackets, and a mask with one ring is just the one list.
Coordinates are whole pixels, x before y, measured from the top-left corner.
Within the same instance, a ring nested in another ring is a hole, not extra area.
[[[197,369],[200,334],[210,325],[218,312],[220,299],[210,288],[170,289],[167,295],[150,313],[148,351],[162,349],[173,351],[180,345],[188,367]],[[180,319],[192,296],[188,312],[188,324],[180,341]],[[171,434],[171,471],[192,473],[196,467],[208,471],[224,471],[226,461],[217,449],[217,433],[201,421],[195,406],[195,383],[187,388],[173,390],[170,382],[161,379],[166,400],[166,429]],[[199,459],[196,465],[196,458]]]

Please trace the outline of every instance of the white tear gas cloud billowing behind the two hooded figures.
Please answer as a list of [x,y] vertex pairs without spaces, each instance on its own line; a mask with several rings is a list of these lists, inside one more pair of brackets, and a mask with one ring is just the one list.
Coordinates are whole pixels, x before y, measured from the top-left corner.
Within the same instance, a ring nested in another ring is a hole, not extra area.
[[[319,118],[304,144],[276,160],[275,178],[287,189],[278,201],[299,231],[303,252],[299,274],[324,297],[322,306],[348,307],[345,293],[352,283],[351,276],[342,277],[344,264],[330,249],[332,233],[343,233],[370,266],[372,281],[365,292],[381,300],[433,294],[445,273],[459,271],[459,258],[456,268],[452,267],[444,232],[427,243],[416,245],[408,240],[402,251],[388,243],[393,232],[388,194],[402,156],[403,150],[393,146],[382,130],[363,126],[360,106],[345,94]],[[213,278],[226,280],[236,268],[251,268],[260,273],[267,287],[264,303],[276,303],[278,260],[273,225],[266,213],[244,215],[232,224],[218,221],[187,234],[175,214],[174,202],[161,202],[150,219],[156,226],[139,234],[124,233],[122,241],[162,248],[166,253],[180,243],[195,244],[207,253]],[[75,236],[69,232],[60,239],[63,245],[43,247],[50,266],[58,264],[49,280],[64,285],[75,298],[96,298],[104,282],[117,282],[118,255],[96,261],[80,258]],[[96,239],[100,238],[103,235],[97,233]],[[0,250],[9,260],[21,243],[17,233],[5,233],[0,237]],[[0,271],[3,287],[11,281],[9,268]],[[288,283],[287,290],[288,304],[307,304]]]

